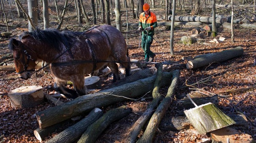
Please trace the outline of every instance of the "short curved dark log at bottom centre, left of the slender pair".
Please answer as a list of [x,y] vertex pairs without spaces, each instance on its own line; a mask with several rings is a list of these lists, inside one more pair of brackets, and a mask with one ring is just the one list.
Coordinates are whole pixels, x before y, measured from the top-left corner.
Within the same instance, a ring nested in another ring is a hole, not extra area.
[[94,143],[111,123],[124,118],[130,113],[131,109],[126,108],[125,106],[109,110],[87,128],[78,140],[78,143]]

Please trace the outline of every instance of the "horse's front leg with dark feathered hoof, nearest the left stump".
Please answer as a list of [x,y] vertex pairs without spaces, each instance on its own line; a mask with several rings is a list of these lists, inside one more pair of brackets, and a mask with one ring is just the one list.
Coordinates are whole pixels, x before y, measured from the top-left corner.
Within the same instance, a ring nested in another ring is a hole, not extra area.
[[78,94],[76,93],[76,91],[67,88],[66,85],[67,85],[66,80],[61,80],[55,77],[55,82],[53,86],[54,90],[59,91],[61,94],[65,95],[67,98],[72,98],[72,99],[77,98]]

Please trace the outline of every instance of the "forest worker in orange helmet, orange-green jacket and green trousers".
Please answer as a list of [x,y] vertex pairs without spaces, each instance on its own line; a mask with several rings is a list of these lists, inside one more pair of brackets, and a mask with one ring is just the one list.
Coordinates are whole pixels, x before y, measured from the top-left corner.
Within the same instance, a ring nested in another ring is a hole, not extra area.
[[143,11],[140,14],[139,31],[142,31],[141,47],[144,51],[145,62],[152,62],[155,57],[155,53],[150,51],[150,45],[153,42],[154,29],[157,27],[157,17],[153,12],[150,12],[149,4],[143,5]]

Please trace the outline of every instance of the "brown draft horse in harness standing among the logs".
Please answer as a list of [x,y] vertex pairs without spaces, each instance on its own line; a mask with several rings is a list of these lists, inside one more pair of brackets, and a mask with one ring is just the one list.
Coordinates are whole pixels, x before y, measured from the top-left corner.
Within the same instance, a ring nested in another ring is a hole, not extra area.
[[[19,39],[10,39],[16,72],[22,79],[31,77],[35,61],[51,63],[57,89],[67,98],[86,95],[84,75],[107,65],[113,73],[113,82],[120,79],[118,65],[131,74],[127,45],[120,31],[110,25],[93,27],[86,32],[58,31],[56,29],[24,32]],[[66,87],[73,82],[74,89]],[[56,90],[57,90],[56,89]]]

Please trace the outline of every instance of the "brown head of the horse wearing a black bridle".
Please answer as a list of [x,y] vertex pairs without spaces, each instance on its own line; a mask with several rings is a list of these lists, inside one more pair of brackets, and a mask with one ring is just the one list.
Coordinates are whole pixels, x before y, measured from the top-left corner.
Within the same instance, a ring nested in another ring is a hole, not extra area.
[[35,69],[35,56],[29,47],[15,38],[10,39],[9,49],[13,53],[16,73],[22,79],[29,79]]

